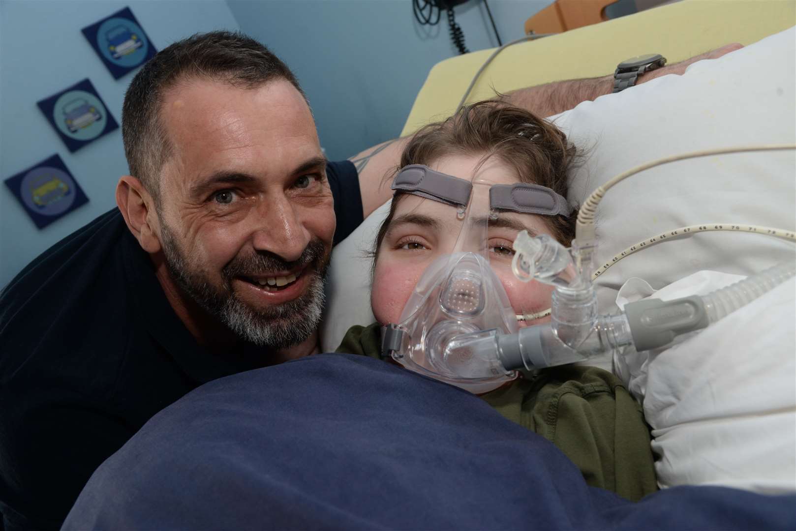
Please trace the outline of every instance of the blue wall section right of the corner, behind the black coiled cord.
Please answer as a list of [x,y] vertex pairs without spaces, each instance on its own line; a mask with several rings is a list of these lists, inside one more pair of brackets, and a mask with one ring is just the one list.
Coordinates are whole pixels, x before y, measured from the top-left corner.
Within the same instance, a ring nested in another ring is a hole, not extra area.
[[[552,0],[491,0],[505,43],[523,37],[525,19]],[[458,52],[447,18],[421,26],[408,0],[228,0],[240,29],[267,45],[298,76],[321,145],[348,158],[395,138],[431,67]],[[456,6],[470,51],[497,46],[483,2]]]

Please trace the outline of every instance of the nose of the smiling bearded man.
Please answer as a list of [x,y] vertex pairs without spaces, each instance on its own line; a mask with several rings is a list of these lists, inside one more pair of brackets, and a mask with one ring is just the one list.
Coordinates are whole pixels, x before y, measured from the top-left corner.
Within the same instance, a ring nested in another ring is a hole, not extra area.
[[304,226],[303,213],[287,197],[265,197],[252,213],[255,219],[253,245],[256,251],[267,251],[293,262],[310,243],[310,232]]

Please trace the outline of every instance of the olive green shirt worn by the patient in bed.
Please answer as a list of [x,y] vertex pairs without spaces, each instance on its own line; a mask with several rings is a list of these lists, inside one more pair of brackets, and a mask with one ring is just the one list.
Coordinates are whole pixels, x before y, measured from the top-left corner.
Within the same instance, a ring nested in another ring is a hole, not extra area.
[[[337,352],[380,358],[381,329],[352,326]],[[641,406],[613,374],[562,365],[481,396],[505,418],[544,436],[591,486],[637,501],[657,490],[650,429]]]

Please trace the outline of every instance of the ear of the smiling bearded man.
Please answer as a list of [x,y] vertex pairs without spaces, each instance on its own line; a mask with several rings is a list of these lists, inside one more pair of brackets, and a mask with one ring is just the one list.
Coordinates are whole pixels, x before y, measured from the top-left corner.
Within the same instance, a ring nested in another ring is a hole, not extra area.
[[154,254],[161,250],[160,225],[154,198],[137,178],[125,175],[116,185],[116,205],[122,212],[127,228],[144,251]]

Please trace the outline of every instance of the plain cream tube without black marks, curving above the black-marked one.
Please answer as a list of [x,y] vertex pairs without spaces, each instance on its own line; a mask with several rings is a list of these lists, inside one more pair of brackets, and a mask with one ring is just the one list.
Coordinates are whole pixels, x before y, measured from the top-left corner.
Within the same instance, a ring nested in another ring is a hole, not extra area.
[[724,147],[714,150],[700,150],[700,151],[692,151],[690,153],[681,153],[677,155],[671,155],[665,158],[658,158],[652,162],[646,162],[641,166],[636,166],[623,172],[622,174],[618,174],[615,178],[612,178],[610,181],[606,182],[604,185],[600,185],[595,189],[594,192],[587,198],[586,201],[583,202],[581,205],[579,212],[578,212],[578,222],[575,228],[575,238],[579,245],[589,245],[591,242],[595,240],[595,214],[597,213],[597,206],[599,202],[603,199],[605,193],[617,185],[619,182],[624,181],[626,178],[629,178],[632,175],[641,173],[644,170],[649,170],[650,168],[654,168],[655,166],[661,166],[663,164],[668,164],[669,162],[677,162],[681,160],[686,160],[689,158],[699,158],[699,157],[708,157],[710,155],[718,155],[718,154],[730,154],[730,153],[745,153],[747,151],[774,151],[774,150],[794,150],[796,149],[796,144],[763,144],[759,146],[735,146],[735,147]]

